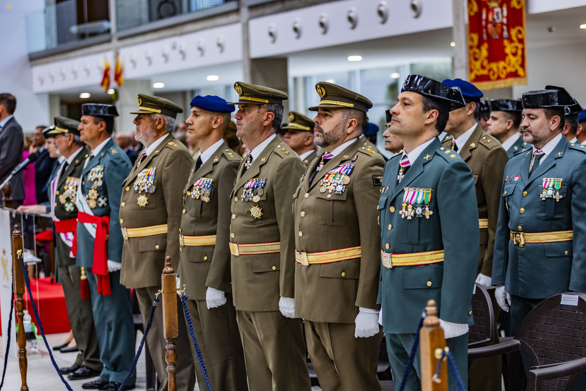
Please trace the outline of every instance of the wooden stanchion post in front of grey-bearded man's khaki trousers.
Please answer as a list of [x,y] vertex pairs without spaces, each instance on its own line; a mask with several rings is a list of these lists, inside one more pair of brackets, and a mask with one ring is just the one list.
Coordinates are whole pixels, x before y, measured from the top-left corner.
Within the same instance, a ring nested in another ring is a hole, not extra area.
[[177,372],[177,349],[175,340],[179,335],[177,318],[177,283],[175,270],[171,267],[171,257],[165,257],[165,268],[161,276],[163,287],[163,336],[167,344],[165,349],[165,361],[167,362],[167,373],[169,374],[168,391],[176,391],[175,372]]

